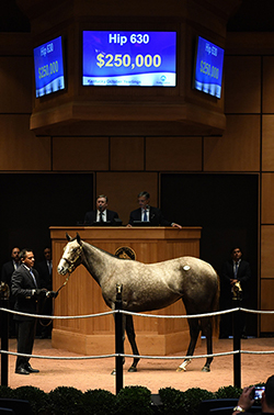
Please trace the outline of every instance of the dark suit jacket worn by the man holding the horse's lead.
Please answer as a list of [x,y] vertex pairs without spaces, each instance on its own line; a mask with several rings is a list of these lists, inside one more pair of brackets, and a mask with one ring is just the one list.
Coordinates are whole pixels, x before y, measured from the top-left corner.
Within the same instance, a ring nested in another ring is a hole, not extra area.
[[[37,287],[41,288],[39,274],[36,269],[32,269],[35,276]],[[14,310],[23,313],[37,313],[37,299],[32,295],[32,290],[35,290],[35,283],[30,271],[22,263],[11,277],[11,292],[15,298]],[[14,315],[14,319],[30,321],[33,317]]]

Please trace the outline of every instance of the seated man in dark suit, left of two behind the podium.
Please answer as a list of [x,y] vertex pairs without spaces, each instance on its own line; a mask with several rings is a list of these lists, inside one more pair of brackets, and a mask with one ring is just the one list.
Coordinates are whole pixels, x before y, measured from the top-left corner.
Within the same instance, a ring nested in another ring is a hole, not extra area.
[[110,222],[110,225],[115,225],[115,220],[118,220],[116,212],[110,211],[107,208],[107,197],[100,194],[96,198],[96,210],[87,212],[84,215],[84,225],[100,224],[102,222]]

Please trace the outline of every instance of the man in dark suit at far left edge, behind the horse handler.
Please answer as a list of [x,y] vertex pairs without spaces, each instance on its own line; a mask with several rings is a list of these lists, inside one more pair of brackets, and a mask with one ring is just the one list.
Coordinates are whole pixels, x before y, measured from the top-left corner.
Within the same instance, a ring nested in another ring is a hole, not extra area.
[[[2,272],[1,272],[1,281],[5,282],[10,288],[10,299],[9,299],[10,310],[14,310],[14,299],[11,295],[11,276],[14,272],[14,270],[18,269],[19,266],[21,265],[19,254],[20,254],[20,249],[18,247],[14,247],[11,251],[11,260],[3,265]],[[9,332],[10,332],[10,337],[14,337],[16,334],[15,324],[14,324],[14,319],[12,318],[12,314],[9,315]]]

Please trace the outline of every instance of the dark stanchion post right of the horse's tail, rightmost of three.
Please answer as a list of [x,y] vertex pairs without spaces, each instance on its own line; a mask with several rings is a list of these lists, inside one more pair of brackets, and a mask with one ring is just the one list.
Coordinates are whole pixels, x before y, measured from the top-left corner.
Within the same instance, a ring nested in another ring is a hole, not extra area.
[[[233,303],[235,307],[241,305],[241,288],[240,284],[233,289]],[[241,350],[241,311],[233,313],[233,351]],[[241,354],[233,355],[233,377],[235,386],[241,388]]]

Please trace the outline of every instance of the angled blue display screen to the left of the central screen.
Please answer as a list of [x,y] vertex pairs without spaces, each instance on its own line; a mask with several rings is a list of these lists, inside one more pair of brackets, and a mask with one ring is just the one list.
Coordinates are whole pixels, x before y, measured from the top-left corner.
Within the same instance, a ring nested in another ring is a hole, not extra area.
[[36,98],[65,89],[61,36],[35,47]]

